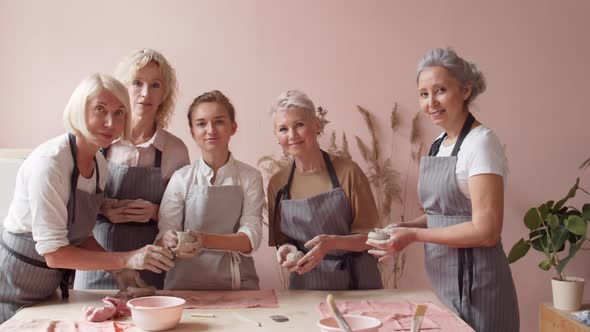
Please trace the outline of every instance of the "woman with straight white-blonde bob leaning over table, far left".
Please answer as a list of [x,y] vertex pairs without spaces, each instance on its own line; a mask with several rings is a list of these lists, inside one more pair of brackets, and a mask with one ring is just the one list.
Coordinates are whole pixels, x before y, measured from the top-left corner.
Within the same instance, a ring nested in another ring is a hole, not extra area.
[[64,111],[67,134],[39,147],[21,165],[0,238],[0,321],[22,307],[62,297],[74,269],[116,272],[120,287],[142,286],[136,272],[168,270],[172,255],[148,245],[107,253],[92,236],[106,183],[99,152],[129,132],[129,96],[116,79],[94,74],[74,90]]

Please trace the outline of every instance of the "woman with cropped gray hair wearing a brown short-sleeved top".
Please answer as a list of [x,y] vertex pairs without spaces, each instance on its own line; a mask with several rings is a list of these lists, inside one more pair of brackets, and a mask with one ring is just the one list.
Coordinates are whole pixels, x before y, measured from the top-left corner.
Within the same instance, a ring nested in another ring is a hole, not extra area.
[[291,272],[290,289],[381,288],[365,244],[379,225],[369,180],[354,161],[320,149],[315,112],[295,90],[272,106],[275,135],[293,163],[268,184],[269,244]]

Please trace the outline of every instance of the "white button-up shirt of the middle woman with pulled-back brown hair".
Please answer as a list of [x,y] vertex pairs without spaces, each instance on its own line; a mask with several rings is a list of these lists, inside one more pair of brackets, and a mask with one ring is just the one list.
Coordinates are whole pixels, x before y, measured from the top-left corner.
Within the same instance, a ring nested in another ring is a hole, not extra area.
[[[195,172],[194,181],[192,181],[193,171]],[[215,183],[211,184],[213,175],[213,170],[203,159],[174,173],[160,203],[160,221],[158,222],[160,231],[156,239],[160,239],[168,230],[182,231],[184,209],[190,186],[237,185],[244,190],[242,216],[237,232],[246,234],[250,239],[252,250],[257,249],[262,240],[262,206],[264,204],[264,188],[260,171],[235,160],[230,155],[227,163],[217,171]]]

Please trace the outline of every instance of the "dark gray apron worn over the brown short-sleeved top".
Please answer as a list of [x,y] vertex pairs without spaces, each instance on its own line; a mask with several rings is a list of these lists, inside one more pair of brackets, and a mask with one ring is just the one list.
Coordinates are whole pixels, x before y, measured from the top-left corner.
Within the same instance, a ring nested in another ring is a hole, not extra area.
[[[280,204],[281,232],[295,241],[299,250],[320,234],[350,235],[352,213],[348,198],[336,177],[330,156],[322,151],[332,190],[307,199],[290,199],[295,163],[287,185],[277,194],[275,219]],[[311,271],[290,273],[289,289],[376,289],[383,288],[377,260],[367,252],[334,250]]]

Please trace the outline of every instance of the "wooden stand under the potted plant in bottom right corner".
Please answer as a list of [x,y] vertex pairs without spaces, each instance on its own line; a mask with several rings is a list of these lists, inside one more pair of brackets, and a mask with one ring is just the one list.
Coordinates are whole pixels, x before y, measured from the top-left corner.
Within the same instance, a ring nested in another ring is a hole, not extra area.
[[[588,310],[590,305],[584,305],[580,310]],[[570,316],[572,311],[553,308],[549,303],[542,303],[539,309],[539,328],[541,332],[590,332],[586,326]]]

